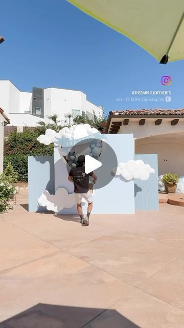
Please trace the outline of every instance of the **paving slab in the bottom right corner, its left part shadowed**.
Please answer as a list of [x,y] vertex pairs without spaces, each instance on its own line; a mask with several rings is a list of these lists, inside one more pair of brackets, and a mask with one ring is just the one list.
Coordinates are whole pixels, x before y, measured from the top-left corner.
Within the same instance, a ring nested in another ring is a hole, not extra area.
[[139,290],[129,293],[112,309],[85,328],[183,328],[183,311]]

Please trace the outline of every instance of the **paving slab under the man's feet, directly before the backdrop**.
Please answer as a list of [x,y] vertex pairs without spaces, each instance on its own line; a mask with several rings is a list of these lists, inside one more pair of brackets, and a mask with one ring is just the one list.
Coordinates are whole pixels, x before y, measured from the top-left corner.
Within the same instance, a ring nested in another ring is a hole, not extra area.
[[116,231],[112,228],[102,227],[99,224],[91,224],[90,228],[84,227],[77,215],[55,216],[53,214],[29,213],[25,216],[23,213],[9,217],[7,220],[60,249],[109,235]]

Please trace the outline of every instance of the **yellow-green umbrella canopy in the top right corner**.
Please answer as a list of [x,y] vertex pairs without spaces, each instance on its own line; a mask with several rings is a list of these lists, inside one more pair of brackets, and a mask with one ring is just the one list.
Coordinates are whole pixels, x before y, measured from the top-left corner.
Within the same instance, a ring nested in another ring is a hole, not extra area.
[[67,0],[164,64],[184,58],[183,0]]

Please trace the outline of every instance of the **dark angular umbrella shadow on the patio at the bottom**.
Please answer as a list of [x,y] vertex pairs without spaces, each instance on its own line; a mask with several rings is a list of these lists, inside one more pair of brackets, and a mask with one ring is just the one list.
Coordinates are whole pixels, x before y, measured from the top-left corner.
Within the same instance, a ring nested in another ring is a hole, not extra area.
[[39,303],[0,323],[0,328],[141,328],[116,310]]

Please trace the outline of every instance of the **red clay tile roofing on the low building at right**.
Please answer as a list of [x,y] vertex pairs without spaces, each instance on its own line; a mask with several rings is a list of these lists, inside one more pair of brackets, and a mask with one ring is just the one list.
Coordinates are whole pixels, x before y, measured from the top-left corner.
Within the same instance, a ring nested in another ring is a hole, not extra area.
[[184,109],[127,109],[110,111],[109,115],[184,115]]

